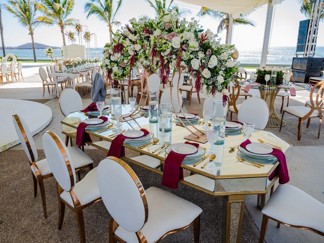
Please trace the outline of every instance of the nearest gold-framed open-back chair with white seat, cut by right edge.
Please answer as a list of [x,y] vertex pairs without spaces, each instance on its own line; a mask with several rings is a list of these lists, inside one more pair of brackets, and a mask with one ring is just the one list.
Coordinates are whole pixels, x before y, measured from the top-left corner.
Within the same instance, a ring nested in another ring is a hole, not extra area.
[[[314,101],[313,94],[316,89],[318,89],[318,90],[316,92],[316,100]],[[319,138],[320,127],[321,127],[322,118],[323,118],[323,114],[321,112],[321,109],[323,107],[323,100],[324,100],[324,81],[321,81],[321,82],[318,82],[310,91],[310,94],[309,94],[310,107],[289,106],[289,107],[284,108],[284,110],[282,111],[279,132],[281,131],[281,128],[282,128],[282,120],[284,119],[284,115],[287,112],[291,115],[298,117],[298,119],[299,119],[298,135],[297,135],[298,141],[301,139],[301,136],[302,136],[303,121],[308,119],[307,126],[306,126],[306,128],[308,128],[309,124],[310,124],[310,119],[318,117],[319,118],[319,126],[318,126],[317,138]]]

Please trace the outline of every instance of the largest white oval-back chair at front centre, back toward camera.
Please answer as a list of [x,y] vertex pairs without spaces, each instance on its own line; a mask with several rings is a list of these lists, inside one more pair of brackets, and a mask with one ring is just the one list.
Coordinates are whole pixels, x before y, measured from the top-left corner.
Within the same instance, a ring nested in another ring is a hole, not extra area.
[[144,190],[135,172],[123,160],[103,159],[98,166],[97,180],[103,203],[112,217],[111,242],[159,242],[192,224],[194,242],[199,242],[202,210],[156,187]]

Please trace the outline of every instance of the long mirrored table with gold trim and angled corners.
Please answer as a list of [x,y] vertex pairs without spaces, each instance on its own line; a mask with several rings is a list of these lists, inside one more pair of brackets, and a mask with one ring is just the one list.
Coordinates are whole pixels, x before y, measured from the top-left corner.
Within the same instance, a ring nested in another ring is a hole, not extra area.
[[[123,106],[123,114],[127,114],[130,111],[130,105],[122,105]],[[116,123],[115,120],[111,119],[111,114],[107,115],[108,119],[112,123]],[[72,112],[68,116],[66,116],[62,121],[62,133],[75,138],[76,128],[80,121],[89,118],[85,113],[77,111]],[[168,136],[165,138],[163,142],[171,143],[180,143],[185,142],[187,140],[184,139],[186,135],[189,135],[189,132],[181,127],[172,123],[172,131],[168,133]],[[197,126],[199,129],[203,130],[201,126]],[[122,123],[122,130],[124,129],[147,129],[149,132],[154,134],[154,138],[159,138],[159,128],[158,124],[152,124],[148,122],[148,118],[141,116],[134,120],[129,120]],[[106,132],[97,133],[87,131],[91,135],[92,138],[96,137],[99,140],[112,141],[108,136],[117,132],[116,129],[112,129]],[[257,142],[257,139],[260,138],[266,142],[276,144],[282,148],[282,151],[285,153],[287,161],[290,158],[290,150],[292,145],[277,137],[276,135],[267,132],[257,130],[251,136],[252,142]],[[244,212],[244,204],[245,204],[245,196],[248,194],[262,194],[261,196],[261,206],[265,203],[265,194],[268,191],[273,190],[273,185],[277,180],[277,176],[275,176],[272,181],[268,180],[268,176],[273,172],[273,170],[278,166],[278,162],[274,165],[265,165],[264,167],[257,168],[250,165],[246,165],[244,163],[240,163],[236,160],[236,151],[234,153],[229,153],[229,147],[233,147],[239,145],[242,141],[245,140],[243,135],[237,136],[228,136],[225,138],[224,145],[215,145],[217,150],[217,170],[214,174],[207,172],[205,169],[201,169],[200,166],[203,163],[200,163],[197,167],[193,167],[192,165],[182,165],[181,167],[185,170],[188,170],[191,173],[197,174],[201,176],[201,183],[192,184],[187,181],[186,178],[184,180],[179,180],[180,183],[183,183],[187,186],[193,187],[196,190],[214,195],[214,196],[222,196],[224,198],[223,201],[223,227],[222,227],[222,242],[239,242],[240,233],[241,233],[241,224]],[[87,142],[88,143],[88,142]],[[93,144],[89,142],[88,144],[93,145],[103,151],[108,151],[106,148],[98,146],[97,144]],[[123,145],[126,148],[132,149],[134,151],[138,151],[141,154],[146,154],[151,157],[160,159],[161,163],[165,161],[166,154],[161,153],[159,155],[155,155],[152,153],[153,150],[158,148],[160,144],[153,145],[144,149],[139,149],[138,147],[133,147],[127,144]],[[203,148],[209,148],[209,144],[200,144]],[[126,156],[121,157],[122,159],[144,167],[151,171],[152,173],[158,173],[163,175],[163,171],[155,168],[148,167],[138,161],[133,160],[132,158]],[[207,160],[206,160],[207,161]],[[140,177],[140,175],[139,175]],[[239,212],[239,217],[235,217],[233,215],[233,210],[235,212]]]

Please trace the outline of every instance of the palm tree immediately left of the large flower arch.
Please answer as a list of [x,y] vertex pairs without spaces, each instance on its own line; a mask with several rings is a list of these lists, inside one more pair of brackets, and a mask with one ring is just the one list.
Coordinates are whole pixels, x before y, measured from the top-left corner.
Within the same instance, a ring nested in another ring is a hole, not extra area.
[[120,22],[116,21],[115,17],[121,7],[121,1],[122,0],[118,0],[115,10],[112,6],[113,0],[90,0],[89,3],[85,4],[87,18],[89,18],[90,15],[96,15],[99,20],[107,24],[110,43],[112,42],[112,26],[120,25]]

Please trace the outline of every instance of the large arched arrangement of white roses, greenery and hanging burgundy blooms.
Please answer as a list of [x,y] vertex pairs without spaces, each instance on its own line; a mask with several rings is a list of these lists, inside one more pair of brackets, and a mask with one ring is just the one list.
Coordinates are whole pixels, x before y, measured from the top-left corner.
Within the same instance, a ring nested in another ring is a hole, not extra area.
[[180,20],[175,11],[155,19],[131,19],[116,32],[113,43],[104,49],[103,67],[111,79],[130,76],[132,67],[159,70],[163,82],[170,71],[188,72],[209,93],[227,93],[235,77],[238,62],[234,46],[222,45],[217,35],[204,31],[194,19]]

